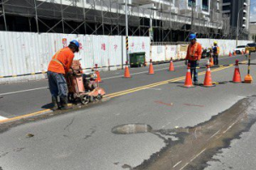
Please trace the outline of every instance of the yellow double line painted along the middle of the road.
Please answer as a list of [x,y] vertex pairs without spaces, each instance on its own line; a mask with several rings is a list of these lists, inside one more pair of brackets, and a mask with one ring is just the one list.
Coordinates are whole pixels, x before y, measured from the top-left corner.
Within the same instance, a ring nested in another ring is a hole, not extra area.
[[[220,67],[218,69],[213,69],[212,72],[222,71],[222,70],[228,69],[230,67],[232,67],[232,66]],[[205,71],[201,71],[201,72],[198,73],[198,76],[202,76],[204,74],[205,74]],[[104,98],[112,99],[112,98],[119,97],[119,96],[122,96],[122,95],[125,95],[125,94],[135,93],[135,92],[141,91],[143,89],[154,88],[154,87],[157,87],[157,86],[160,86],[160,85],[167,84],[169,82],[177,82],[177,81],[183,80],[184,78],[185,77],[177,77],[177,78],[173,78],[173,79],[162,81],[162,82],[155,82],[153,84],[148,84],[146,86],[142,86],[142,87],[138,87],[138,88],[131,88],[131,89],[128,89],[128,90],[125,90],[125,91],[120,91],[118,93],[108,94],[108,95],[104,96]],[[5,120],[0,120],[0,123],[16,121],[16,120],[19,120],[21,118],[27,118],[27,117],[30,117],[30,116],[38,116],[38,115],[45,114],[45,113],[48,113],[48,112],[52,112],[52,111],[50,109],[43,110],[43,111],[37,111],[37,112],[26,114],[26,115],[23,115],[23,116],[16,116],[16,117],[13,117],[13,118],[7,118]]]

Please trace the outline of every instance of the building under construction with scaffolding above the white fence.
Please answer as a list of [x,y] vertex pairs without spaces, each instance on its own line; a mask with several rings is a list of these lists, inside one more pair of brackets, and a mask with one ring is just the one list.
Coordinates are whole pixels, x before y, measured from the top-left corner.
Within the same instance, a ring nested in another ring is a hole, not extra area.
[[[127,0],[129,36],[153,42],[235,38],[222,0]],[[125,0],[2,0],[0,30],[125,35]],[[242,37],[243,38],[243,37]]]

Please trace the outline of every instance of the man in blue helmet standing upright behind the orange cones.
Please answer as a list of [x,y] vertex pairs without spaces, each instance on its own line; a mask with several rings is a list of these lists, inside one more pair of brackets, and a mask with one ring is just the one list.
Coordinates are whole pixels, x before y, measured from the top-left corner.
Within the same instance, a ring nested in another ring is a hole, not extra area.
[[194,75],[194,83],[195,85],[198,84],[198,71],[197,71],[197,66],[199,65],[199,61],[201,59],[201,53],[202,53],[202,48],[201,44],[199,42],[196,42],[196,36],[195,34],[190,34],[189,35],[189,47],[187,50],[187,56],[185,58],[185,65],[190,65],[191,68],[191,77]]

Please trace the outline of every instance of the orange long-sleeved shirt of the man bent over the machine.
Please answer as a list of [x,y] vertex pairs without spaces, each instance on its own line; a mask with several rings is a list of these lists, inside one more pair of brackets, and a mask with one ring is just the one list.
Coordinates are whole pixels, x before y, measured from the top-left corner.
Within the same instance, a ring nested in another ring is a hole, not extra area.
[[65,74],[73,63],[74,54],[70,48],[62,48],[49,62],[48,71]]

